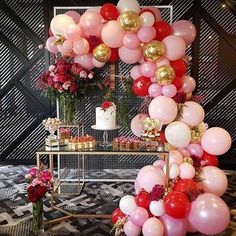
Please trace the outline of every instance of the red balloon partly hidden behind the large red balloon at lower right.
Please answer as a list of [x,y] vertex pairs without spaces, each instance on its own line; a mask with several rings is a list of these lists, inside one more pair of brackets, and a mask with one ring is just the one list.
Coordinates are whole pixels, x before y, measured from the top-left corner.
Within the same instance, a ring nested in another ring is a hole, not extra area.
[[183,193],[186,197],[190,197],[191,194],[198,192],[198,187],[192,179],[179,179],[175,183],[173,190]]

